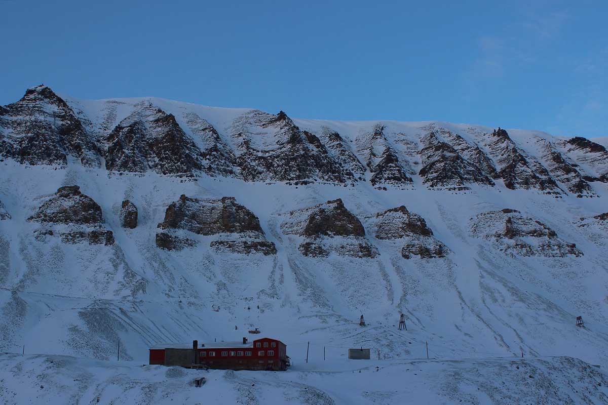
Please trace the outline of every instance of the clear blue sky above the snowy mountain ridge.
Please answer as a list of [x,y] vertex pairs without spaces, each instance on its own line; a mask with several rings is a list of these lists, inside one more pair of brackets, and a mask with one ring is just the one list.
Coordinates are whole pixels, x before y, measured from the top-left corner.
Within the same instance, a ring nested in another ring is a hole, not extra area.
[[608,135],[608,2],[497,3],[0,0],[0,104],[44,83],[78,98]]

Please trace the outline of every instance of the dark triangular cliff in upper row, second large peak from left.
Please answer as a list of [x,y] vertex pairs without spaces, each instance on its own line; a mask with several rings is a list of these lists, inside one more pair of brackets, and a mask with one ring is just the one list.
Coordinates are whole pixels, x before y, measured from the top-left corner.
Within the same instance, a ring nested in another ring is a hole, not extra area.
[[201,151],[172,114],[142,103],[106,139],[106,169],[159,174],[201,170]]

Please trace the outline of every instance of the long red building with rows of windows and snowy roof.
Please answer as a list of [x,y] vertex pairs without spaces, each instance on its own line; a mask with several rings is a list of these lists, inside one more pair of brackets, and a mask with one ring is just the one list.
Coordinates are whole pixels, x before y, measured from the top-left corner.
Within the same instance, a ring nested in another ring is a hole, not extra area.
[[255,339],[243,342],[213,342],[192,346],[157,345],[150,349],[150,364],[182,367],[206,367],[228,370],[286,370],[289,366],[287,345],[280,340]]

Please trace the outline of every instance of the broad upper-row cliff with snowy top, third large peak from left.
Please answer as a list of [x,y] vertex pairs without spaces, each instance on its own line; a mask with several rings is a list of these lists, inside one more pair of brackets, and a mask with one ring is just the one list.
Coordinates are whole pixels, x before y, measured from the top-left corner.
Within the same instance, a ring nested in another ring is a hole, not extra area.
[[283,111],[247,112],[233,123],[232,138],[236,164],[246,181],[354,180],[316,135],[302,131]]

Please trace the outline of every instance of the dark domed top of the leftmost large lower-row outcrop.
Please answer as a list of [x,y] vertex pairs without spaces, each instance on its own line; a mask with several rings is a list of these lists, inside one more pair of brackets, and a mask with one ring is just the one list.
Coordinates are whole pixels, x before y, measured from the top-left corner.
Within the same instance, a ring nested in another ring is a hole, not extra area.
[[41,223],[100,225],[102,208],[78,186],[61,187],[27,220]]

